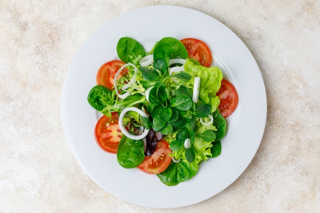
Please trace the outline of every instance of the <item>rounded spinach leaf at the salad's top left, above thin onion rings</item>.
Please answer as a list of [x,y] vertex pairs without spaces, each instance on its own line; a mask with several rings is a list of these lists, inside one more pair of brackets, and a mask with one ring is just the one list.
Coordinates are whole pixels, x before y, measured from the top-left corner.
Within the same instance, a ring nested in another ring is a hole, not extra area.
[[133,38],[120,38],[117,44],[117,54],[119,58],[126,63],[137,65],[146,52],[143,46]]

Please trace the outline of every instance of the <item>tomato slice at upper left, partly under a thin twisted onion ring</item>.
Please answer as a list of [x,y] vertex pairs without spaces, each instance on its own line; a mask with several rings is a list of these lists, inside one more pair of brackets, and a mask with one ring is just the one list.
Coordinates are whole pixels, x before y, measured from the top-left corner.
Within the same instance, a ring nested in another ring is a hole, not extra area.
[[[97,73],[97,84],[107,87],[110,90],[113,90],[113,81],[115,80],[115,75],[118,70],[124,65],[125,63],[120,60],[113,60],[104,63],[98,70]],[[124,70],[127,70],[126,68]],[[118,76],[117,80],[121,78],[121,74]]]

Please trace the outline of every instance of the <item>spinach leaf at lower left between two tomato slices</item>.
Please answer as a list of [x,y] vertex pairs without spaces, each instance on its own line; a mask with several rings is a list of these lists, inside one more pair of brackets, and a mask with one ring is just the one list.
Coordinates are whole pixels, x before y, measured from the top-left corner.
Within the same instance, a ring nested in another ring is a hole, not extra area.
[[118,146],[117,160],[123,168],[135,168],[145,159],[144,153],[143,140],[133,140],[123,135]]

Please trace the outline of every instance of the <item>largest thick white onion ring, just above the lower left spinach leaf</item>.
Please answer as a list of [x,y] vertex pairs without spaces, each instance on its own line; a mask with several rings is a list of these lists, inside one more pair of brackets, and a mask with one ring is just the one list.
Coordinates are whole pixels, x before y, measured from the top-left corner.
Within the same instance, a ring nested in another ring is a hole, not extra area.
[[140,139],[143,139],[145,138],[148,133],[149,133],[149,130],[148,129],[144,129],[143,133],[141,135],[133,135],[131,134],[130,132],[128,132],[126,130],[126,128],[124,127],[124,124],[123,124],[123,118],[124,118],[124,115],[128,112],[128,111],[134,111],[134,112],[137,112],[139,113],[141,116],[143,117],[148,117],[148,115],[142,111],[141,109],[138,109],[136,107],[128,107],[128,108],[124,108],[124,110],[122,110],[122,112],[120,113],[119,115],[119,128],[121,130],[121,132],[127,136],[128,138],[132,139],[132,140],[140,140]]

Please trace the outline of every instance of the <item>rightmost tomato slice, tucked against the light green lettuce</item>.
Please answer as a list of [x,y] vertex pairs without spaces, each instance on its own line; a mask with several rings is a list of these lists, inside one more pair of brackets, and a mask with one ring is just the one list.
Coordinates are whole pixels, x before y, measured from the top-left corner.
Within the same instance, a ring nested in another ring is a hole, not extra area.
[[235,86],[230,81],[222,79],[221,87],[216,96],[220,99],[218,108],[223,117],[231,115],[236,110],[239,97]]

